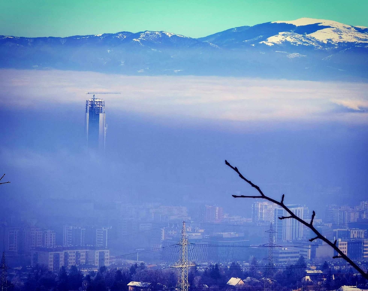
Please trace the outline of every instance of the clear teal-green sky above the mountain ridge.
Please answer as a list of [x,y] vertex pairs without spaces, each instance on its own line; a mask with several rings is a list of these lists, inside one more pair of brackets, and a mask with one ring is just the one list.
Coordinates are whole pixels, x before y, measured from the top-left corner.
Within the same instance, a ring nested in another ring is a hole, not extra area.
[[301,17],[368,26],[367,0],[0,0],[0,35],[25,37],[164,30],[203,37]]

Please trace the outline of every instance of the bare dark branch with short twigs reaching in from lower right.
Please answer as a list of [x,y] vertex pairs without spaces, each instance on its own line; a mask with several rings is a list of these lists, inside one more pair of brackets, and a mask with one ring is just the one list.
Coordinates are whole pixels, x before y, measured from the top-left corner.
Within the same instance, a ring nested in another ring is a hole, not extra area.
[[311,217],[311,221],[310,222],[306,222],[303,219],[301,219],[299,216],[295,215],[293,211],[291,211],[285,204],[284,204],[284,198],[285,198],[285,194],[282,194],[281,197],[281,201],[277,201],[275,199],[272,199],[268,196],[266,196],[262,190],[256,185],[253,184],[250,180],[248,180],[247,178],[245,178],[238,170],[237,167],[233,167],[231,166],[231,164],[229,162],[227,162],[227,160],[225,160],[225,164],[227,166],[229,166],[231,169],[233,169],[241,179],[243,179],[245,182],[247,182],[248,184],[250,184],[250,186],[252,186],[253,188],[255,188],[258,193],[260,195],[255,195],[255,196],[247,196],[247,195],[232,195],[234,198],[262,198],[268,201],[271,201],[277,205],[279,205],[280,207],[282,207],[283,209],[285,209],[285,211],[289,214],[289,216],[281,216],[279,217],[279,219],[296,219],[297,221],[299,221],[301,224],[307,226],[309,229],[311,229],[315,234],[316,237],[315,238],[311,238],[309,239],[310,242],[314,241],[315,239],[321,239],[323,240],[325,243],[327,243],[329,246],[331,246],[337,253],[337,256],[333,256],[333,259],[336,258],[342,258],[344,260],[346,260],[351,266],[353,266],[365,279],[368,280],[368,274],[365,273],[364,270],[362,270],[357,264],[355,264],[346,254],[344,254],[339,247],[337,247],[336,243],[337,240],[335,240],[335,242],[330,242],[330,240],[326,239],[313,225],[313,220],[314,217],[316,215],[316,213],[312,212],[312,217]]

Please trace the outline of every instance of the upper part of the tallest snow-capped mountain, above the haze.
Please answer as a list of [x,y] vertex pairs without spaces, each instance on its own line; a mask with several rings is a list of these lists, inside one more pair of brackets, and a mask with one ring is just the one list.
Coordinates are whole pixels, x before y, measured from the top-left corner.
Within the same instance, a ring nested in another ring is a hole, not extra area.
[[368,28],[331,20],[300,18],[231,28],[200,39],[225,46],[290,44],[322,49],[343,44],[368,45]]

